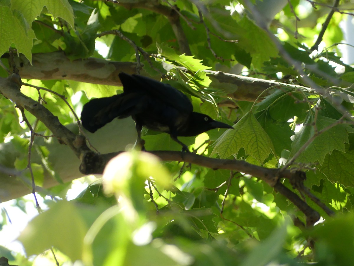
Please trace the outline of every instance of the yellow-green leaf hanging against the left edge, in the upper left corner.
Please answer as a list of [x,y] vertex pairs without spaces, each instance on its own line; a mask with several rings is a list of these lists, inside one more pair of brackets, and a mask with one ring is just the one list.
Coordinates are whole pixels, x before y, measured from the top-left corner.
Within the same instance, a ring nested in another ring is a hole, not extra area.
[[0,6],[0,55],[15,44],[18,53],[32,61],[31,49],[35,34],[18,11],[12,12],[7,6]]

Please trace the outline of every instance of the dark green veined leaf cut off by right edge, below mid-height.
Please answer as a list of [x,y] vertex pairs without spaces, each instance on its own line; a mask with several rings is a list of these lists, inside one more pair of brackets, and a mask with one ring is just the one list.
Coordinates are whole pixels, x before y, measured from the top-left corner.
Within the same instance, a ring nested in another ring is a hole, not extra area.
[[331,182],[339,182],[345,187],[354,187],[354,151],[334,150],[332,154],[327,154],[323,164],[318,167]]

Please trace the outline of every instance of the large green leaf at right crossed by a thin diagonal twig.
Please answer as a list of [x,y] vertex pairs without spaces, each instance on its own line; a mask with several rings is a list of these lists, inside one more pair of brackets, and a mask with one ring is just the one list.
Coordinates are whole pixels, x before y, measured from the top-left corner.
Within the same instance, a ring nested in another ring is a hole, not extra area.
[[[295,135],[289,158],[292,158],[292,156],[294,156],[295,153],[313,137],[315,134],[315,128],[311,126],[313,122],[314,116],[309,115],[305,125]],[[335,122],[336,120],[332,118],[318,116],[316,120],[317,130],[320,131]],[[344,143],[349,143],[348,131],[352,132],[353,130],[345,124],[338,124],[337,126],[326,130],[324,133],[318,135],[313,142],[307,145],[306,149],[302,151],[296,161],[304,163],[319,161],[320,165],[322,165],[326,154],[331,154],[333,150],[345,152]]]

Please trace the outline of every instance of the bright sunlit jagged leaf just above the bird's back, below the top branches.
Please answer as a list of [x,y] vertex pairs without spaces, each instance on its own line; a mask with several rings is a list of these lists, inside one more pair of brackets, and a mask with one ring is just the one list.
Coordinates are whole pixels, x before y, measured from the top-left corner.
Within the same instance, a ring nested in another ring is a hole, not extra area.
[[179,63],[179,65],[188,68],[194,72],[198,70],[210,69],[211,67],[204,66],[199,59],[195,59],[194,56],[191,55],[178,55],[175,50],[166,45],[157,45],[159,54],[168,58],[169,60],[175,61]]

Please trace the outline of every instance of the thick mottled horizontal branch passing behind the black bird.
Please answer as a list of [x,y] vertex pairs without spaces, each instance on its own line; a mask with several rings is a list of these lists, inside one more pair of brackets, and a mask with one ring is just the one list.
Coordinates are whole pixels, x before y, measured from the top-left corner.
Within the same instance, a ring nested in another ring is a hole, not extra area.
[[[106,61],[93,57],[86,60],[70,61],[63,52],[34,54],[33,65],[23,55],[15,57],[15,61],[20,76],[28,79],[70,79],[94,84],[120,86],[121,82],[118,74],[121,71],[129,74],[136,72],[136,63]],[[255,101],[259,94],[272,86],[300,88],[298,85],[245,77],[221,71],[205,70],[205,72],[209,74],[213,81],[213,87],[222,89],[230,98],[235,100]],[[310,90],[309,88],[305,89]],[[270,93],[272,93],[272,90],[263,95],[266,96]],[[223,104],[234,106],[232,101],[225,101]]]

